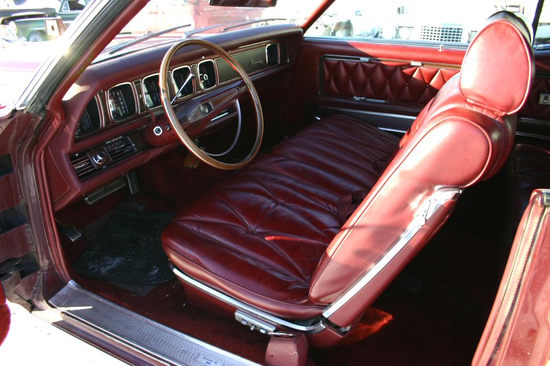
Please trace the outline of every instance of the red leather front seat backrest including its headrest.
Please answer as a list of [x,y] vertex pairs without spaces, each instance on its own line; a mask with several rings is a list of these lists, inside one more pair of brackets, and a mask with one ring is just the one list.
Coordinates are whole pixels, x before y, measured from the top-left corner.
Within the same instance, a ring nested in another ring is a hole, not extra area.
[[[502,167],[533,79],[527,25],[491,16],[461,72],[423,108],[400,149],[325,251],[309,298],[333,323],[360,317],[443,225],[465,187]],[[360,157],[358,157],[360,159]]]

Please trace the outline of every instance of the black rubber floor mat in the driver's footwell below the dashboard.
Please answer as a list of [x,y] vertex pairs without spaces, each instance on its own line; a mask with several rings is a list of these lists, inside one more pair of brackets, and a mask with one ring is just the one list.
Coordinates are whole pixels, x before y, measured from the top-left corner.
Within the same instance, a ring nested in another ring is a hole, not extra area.
[[162,284],[174,278],[160,235],[173,214],[121,207],[73,268],[82,277],[126,284]]

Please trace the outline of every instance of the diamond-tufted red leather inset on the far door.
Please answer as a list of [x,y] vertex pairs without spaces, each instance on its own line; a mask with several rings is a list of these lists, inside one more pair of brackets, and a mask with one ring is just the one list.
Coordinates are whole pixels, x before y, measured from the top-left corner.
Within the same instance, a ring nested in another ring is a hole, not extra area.
[[459,69],[325,58],[322,93],[426,105]]

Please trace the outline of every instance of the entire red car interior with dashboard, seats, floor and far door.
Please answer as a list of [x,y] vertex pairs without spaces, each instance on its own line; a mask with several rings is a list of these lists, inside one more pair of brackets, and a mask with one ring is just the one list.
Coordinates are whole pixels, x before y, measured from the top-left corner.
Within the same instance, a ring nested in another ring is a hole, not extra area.
[[470,363],[550,180],[532,38],[511,12],[467,49],[275,24],[94,62],[39,144],[55,271],[256,363]]

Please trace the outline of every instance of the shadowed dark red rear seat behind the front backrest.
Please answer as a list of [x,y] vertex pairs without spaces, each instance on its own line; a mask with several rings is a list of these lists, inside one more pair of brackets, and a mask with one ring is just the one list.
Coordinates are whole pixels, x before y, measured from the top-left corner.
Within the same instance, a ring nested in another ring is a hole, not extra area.
[[514,228],[518,226],[533,190],[550,188],[550,150],[518,144],[515,155]]

